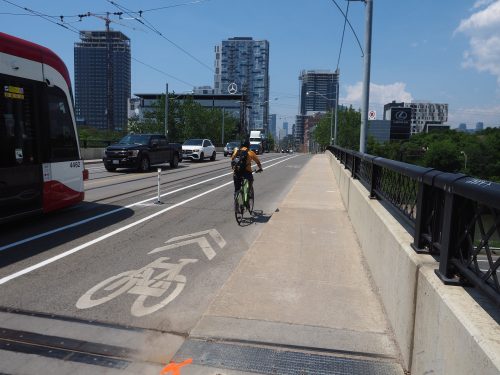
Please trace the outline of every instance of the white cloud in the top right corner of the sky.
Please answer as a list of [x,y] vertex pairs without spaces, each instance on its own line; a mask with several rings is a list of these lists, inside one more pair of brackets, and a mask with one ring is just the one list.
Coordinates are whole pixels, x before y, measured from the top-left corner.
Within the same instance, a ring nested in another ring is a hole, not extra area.
[[496,76],[500,85],[500,0],[477,1],[476,5],[487,7],[462,20],[455,30],[469,37],[462,65]]

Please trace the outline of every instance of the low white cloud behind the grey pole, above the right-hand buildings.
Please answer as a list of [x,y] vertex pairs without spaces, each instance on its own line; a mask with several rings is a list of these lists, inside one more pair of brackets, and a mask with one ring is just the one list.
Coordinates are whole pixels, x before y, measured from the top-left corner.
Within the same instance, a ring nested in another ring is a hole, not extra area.
[[[347,96],[340,101],[349,104],[360,104],[362,100],[363,83],[346,86]],[[370,104],[384,105],[392,102],[411,102],[412,95],[406,91],[406,83],[395,82],[389,85],[370,84]]]

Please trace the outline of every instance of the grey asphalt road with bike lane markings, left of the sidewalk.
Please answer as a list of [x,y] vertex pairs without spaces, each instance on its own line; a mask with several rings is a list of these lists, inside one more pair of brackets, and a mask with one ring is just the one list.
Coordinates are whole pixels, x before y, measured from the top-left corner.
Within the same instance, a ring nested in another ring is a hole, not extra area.
[[84,203],[0,229],[0,311],[186,337],[308,159],[263,155],[241,226],[228,158],[163,167],[161,204],[155,169],[89,164]]

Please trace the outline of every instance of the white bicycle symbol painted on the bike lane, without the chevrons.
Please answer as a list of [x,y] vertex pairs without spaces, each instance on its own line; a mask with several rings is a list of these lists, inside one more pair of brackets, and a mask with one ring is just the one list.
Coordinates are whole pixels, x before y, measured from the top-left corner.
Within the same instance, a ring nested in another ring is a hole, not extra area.
[[[152,314],[172,302],[184,289],[186,277],[182,268],[198,259],[179,259],[168,263],[170,258],[161,257],[138,270],[122,272],[89,289],[76,302],[79,309],[88,309],[111,301],[123,293],[137,295],[130,312],[136,317]],[[164,270],[154,275],[156,270]],[[154,276],[153,276],[154,275]],[[167,293],[170,291],[169,293]],[[166,294],[167,293],[167,294]],[[156,301],[159,302],[154,303]],[[147,305],[146,301],[152,305]]]

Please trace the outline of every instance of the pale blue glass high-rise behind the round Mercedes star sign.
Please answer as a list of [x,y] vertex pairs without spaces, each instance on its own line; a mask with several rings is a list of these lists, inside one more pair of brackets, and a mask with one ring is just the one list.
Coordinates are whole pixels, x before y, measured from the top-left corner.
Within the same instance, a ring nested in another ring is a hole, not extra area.
[[215,46],[214,89],[218,94],[244,95],[244,131],[268,133],[269,42],[235,37]]

